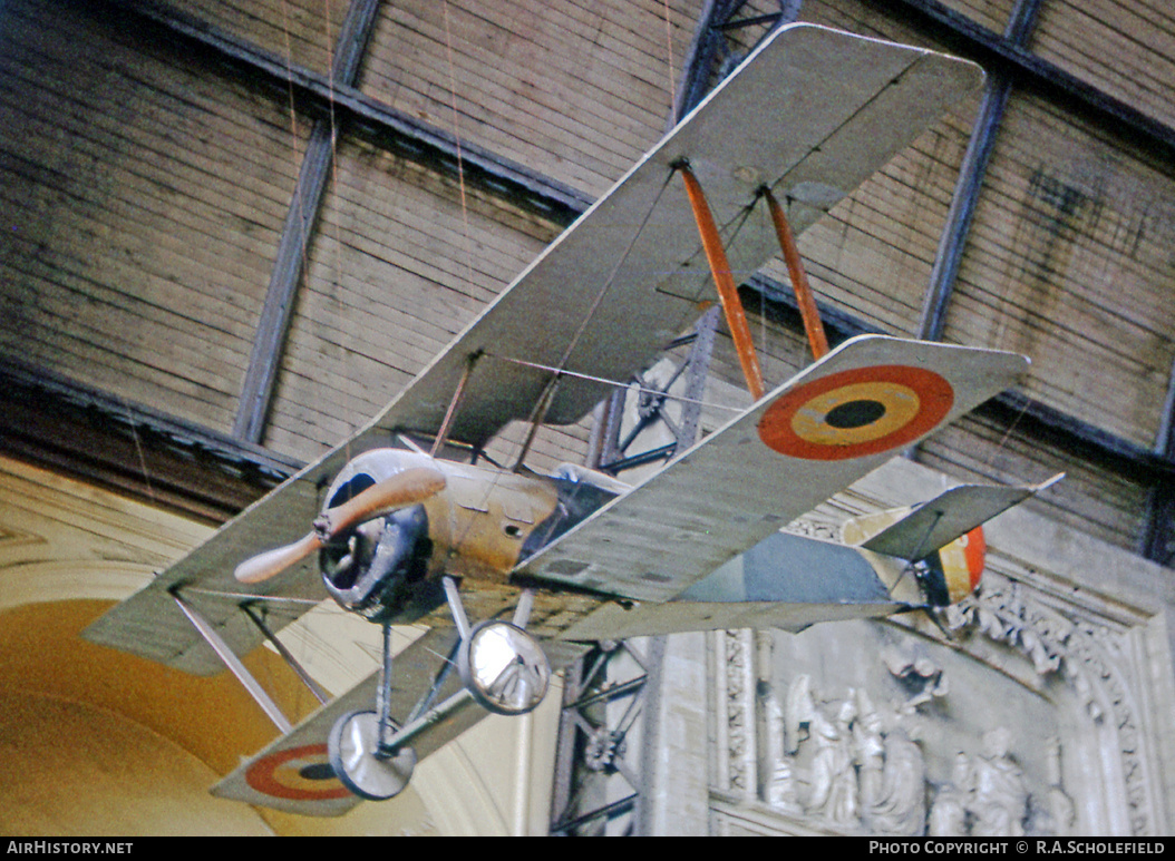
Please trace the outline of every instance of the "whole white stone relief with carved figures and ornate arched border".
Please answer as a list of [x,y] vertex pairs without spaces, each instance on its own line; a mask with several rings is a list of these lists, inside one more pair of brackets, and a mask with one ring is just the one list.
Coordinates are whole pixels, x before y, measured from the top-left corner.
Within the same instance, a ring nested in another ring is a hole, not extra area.
[[[857,684],[764,667],[772,654],[760,639],[760,666],[751,677],[758,679],[757,691],[748,704],[757,717],[744,722],[757,725],[759,735],[744,740],[741,748],[758,744],[760,774],[744,774],[740,785],[758,786],[758,800],[771,809],[833,832],[1077,833],[1079,805],[1063,778],[1065,752],[1076,749],[1076,742],[1068,734],[1061,739],[1062,729],[1072,732],[1072,715],[1066,727],[1047,720],[1003,725],[995,713],[960,724],[975,711],[975,694],[967,693],[975,685],[967,673],[995,667],[1018,679],[1023,695],[1040,700],[1040,713],[1075,712],[1093,733],[1077,727],[1088,736],[1082,744],[1113,738],[1127,786],[1129,833],[1150,833],[1153,805],[1130,697],[1126,633],[1109,623],[1074,618],[1005,578],[989,576],[985,584],[980,597],[946,620],[959,638],[952,650],[962,655],[952,658],[952,670],[934,658],[936,647],[927,647],[925,639],[886,624],[859,624],[885,630],[880,639],[887,647],[872,652],[877,660]],[[916,647],[905,647],[907,643]],[[744,647],[744,659],[746,652]],[[810,660],[819,664],[821,658]],[[960,671],[961,660],[972,670]],[[1014,704],[1014,711],[1021,707]],[[1046,731],[1045,738],[1034,735],[1038,728]],[[1113,732],[1099,734],[1101,728]],[[959,744],[952,749],[953,741]],[[1085,827],[1104,828],[1104,822]]]

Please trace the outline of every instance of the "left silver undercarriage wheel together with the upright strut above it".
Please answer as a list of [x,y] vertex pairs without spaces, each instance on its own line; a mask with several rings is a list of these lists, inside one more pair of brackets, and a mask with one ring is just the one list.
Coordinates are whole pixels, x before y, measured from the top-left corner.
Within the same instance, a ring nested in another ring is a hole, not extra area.
[[327,739],[330,767],[343,786],[360,798],[383,801],[408,786],[416,767],[410,747],[388,746],[398,727],[391,720],[391,627],[383,626],[383,666],[375,712],[350,712],[340,718]]

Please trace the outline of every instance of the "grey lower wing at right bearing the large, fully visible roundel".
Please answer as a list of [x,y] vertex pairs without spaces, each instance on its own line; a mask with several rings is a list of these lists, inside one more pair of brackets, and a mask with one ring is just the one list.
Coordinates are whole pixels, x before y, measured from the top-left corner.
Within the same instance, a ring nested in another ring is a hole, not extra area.
[[665,601],[1007,389],[1028,359],[853,338],[535,554],[519,573]]

